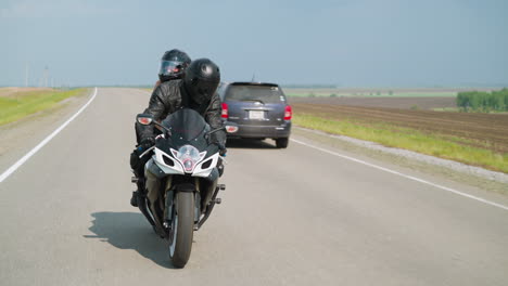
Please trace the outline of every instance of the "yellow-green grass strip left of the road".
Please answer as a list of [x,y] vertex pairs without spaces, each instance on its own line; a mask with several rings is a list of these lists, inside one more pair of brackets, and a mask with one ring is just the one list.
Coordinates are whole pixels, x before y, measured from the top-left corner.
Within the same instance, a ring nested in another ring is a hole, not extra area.
[[46,110],[71,96],[84,94],[86,89],[67,91],[30,91],[0,98],[0,126]]

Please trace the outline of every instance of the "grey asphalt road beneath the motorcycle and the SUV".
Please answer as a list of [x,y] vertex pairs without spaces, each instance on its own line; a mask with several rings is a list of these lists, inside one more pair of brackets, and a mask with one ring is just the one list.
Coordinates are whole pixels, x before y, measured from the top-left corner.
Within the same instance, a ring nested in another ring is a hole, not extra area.
[[148,99],[99,89],[0,183],[0,285],[508,285],[508,210],[296,142],[229,142],[223,204],[173,269],[128,203],[134,118]]

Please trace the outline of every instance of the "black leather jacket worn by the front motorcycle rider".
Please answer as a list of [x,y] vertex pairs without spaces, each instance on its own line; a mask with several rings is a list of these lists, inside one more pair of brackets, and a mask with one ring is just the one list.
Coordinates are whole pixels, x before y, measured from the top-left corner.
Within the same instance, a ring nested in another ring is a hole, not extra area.
[[[200,113],[205,121],[212,127],[212,129],[219,128],[223,126],[220,120],[220,113],[223,110],[220,99],[215,93],[209,102],[203,104],[196,104],[187,94],[183,87],[183,80],[169,80],[158,84],[152,92],[150,98],[149,107],[144,109],[144,114],[151,114],[155,120],[164,120],[169,114],[183,108],[189,107]],[[153,125],[143,126],[136,122],[136,133],[138,134],[138,143],[148,138],[154,136]],[[226,132],[219,131],[214,133],[212,142],[226,144]]]

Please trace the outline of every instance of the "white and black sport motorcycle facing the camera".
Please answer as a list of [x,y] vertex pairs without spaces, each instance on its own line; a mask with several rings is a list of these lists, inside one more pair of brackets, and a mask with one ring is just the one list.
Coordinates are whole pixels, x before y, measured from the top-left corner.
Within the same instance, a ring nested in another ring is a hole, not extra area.
[[211,142],[209,125],[195,110],[179,109],[161,123],[149,114],[139,114],[141,125],[155,125],[162,134],[155,145],[140,155],[153,151],[144,165],[144,182],[134,177],[144,193],[138,196],[138,207],[154,231],[169,240],[173,265],[183,268],[189,261],[193,232],[208,219],[217,197],[226,185],[218,184],[223,157],[217,144]]

